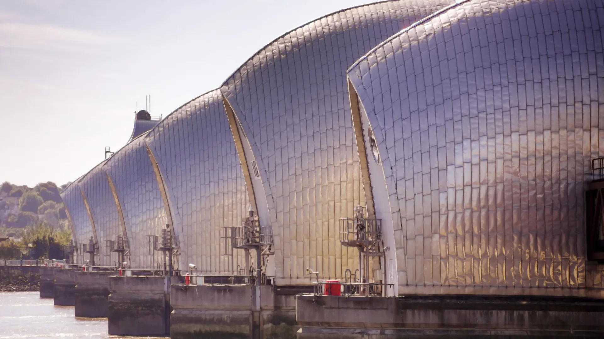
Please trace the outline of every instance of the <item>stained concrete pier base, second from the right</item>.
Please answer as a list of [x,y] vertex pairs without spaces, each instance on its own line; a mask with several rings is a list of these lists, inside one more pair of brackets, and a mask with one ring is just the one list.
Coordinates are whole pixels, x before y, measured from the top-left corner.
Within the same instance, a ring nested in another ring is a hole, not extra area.
[[170,337],[295,338],[295,296],[271,286],[172,285]]

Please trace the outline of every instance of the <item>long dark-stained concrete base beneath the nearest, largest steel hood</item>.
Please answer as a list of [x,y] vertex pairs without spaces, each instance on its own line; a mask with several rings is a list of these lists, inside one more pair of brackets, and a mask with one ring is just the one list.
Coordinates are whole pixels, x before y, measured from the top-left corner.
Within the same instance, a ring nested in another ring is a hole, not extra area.
[[298,339],[602,338],[604,300],[297,296]]

